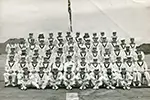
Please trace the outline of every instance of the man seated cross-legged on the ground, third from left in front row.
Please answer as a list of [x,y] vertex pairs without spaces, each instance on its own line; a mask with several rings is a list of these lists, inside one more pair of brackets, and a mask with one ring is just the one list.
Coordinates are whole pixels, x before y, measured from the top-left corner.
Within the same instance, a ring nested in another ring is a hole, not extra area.
[[57,90],[63,79],[62,72],[57,67],[53,67],[49,74],[49,84],[53,90]]

